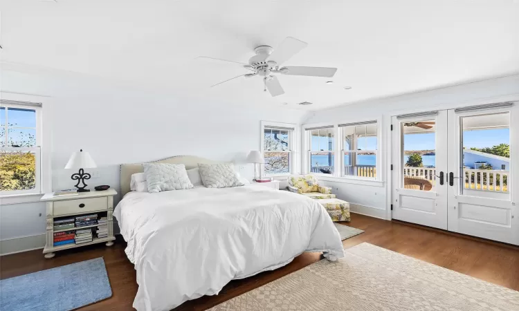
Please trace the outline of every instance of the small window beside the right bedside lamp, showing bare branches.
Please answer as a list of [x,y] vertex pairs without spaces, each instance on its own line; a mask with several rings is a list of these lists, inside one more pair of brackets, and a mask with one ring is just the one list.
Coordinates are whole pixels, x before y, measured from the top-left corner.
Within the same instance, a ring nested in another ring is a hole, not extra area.
[[263,157],[266,175],[288,175],[293,167],[293,127],[264,124]]

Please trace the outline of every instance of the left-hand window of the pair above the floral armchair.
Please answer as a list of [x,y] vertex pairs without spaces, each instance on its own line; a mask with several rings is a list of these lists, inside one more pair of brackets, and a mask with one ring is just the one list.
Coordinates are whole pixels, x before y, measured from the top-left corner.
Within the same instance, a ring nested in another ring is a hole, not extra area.
[[334,173],[335,131],[334,126],[307,129],[311,173]]

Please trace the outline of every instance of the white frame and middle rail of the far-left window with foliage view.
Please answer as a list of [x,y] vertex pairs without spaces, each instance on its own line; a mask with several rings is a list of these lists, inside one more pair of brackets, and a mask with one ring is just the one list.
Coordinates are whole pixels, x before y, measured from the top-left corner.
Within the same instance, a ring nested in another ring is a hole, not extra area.
[[[51,158],[47,152],[45,142],[51,141],[51,133],[44,131],[44,122],[51,124],[47,115],[44,120],[44,106],[48,102],[47,97],[40,97],[36,95],[24,95],[17,93],[0,93],[1,107],[30,109],[36,113],[35,139],[34,147],[0,147],[0,151],[23,151],[35,154],[35,188],[25,190],[0,191],[0,198],[3,204],[16,204],[19,202],[34,202],[39,200],[39,196],[51,189]],[[23,102],[41,103],[42,106],[27,106]],[[9,117],[9,116],[8,116]],[[45,148],[44,148],[45,146]],[[33,199],[27,199],[28,196],[37,196]]]

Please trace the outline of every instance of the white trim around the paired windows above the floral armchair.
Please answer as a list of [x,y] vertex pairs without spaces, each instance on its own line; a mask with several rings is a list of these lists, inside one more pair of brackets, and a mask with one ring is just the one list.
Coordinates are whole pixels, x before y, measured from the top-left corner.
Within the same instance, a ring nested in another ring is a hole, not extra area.
[[[310,135],[307,132],[307,129],[311,129],[313,127],[321,127],[321,126],[334,126],[335,130],[335,155],[340,155],[342,151],[342,142],[341,142],[341,129],[338,127],[338,124],[346,124],[353,122],[367,122],[376,120],[376,178],[369,177],[361,177],[361,176],[341,176],[343,173],[342,165],[343,165],[343,157],[335,156],[334,157],[334,167],[340,169],[334,169],[334,174],[325,174],[325,173],[311,173],[309,171],[309,144],[310,144]],[[301,126],[301,136],[302,136],[302,152],[301,152],[301,162],[302,162],[302,173],[310,174],[318,176],[320,180],[334,181],[334,182],[345,182],[345,183],[354,183],[358,185],[372,185],[376,187],[383,187],[383,172],[382,172],[382,117],[369,117],[364,119],[354,119],[354,120],[340,120],[340,122],[321,122],[321,123],[313,123],[313,124],[303,124]]]

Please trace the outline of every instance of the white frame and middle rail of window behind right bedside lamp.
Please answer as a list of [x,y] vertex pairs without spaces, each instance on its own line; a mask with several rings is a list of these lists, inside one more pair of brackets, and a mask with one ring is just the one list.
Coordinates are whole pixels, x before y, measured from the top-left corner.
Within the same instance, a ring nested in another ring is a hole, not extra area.
[[[268,151],[264,150],[265,147],[265,129],[268,129],[270,127],[286,127],[286,128],[293,128],[293,130],[289,130],[289,146],[288,151]],[[289,154],[289,172],[288,173],[265,173],[265,164],[261,164],[261,173],[262,176],[266,177],[286,177],[293,175],[297,171],[297,165],[298,165],[298,124],[292,124],[292,123],[282,123],[282,122],[270,122],[270,121],[262,121],[261,122],[261,136],[260,136],[260,151],[262,155],[264,156],[265,152],[286,152]]]

